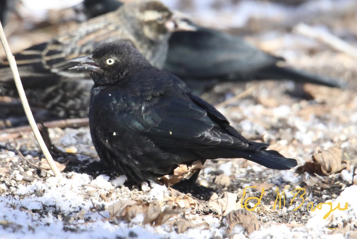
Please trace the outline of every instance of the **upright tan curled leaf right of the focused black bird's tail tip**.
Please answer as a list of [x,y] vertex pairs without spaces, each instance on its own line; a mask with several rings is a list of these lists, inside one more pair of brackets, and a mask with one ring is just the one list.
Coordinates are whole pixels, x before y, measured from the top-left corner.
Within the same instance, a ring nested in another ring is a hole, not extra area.
[[321,170],[324,174],[329,175],[338,173],[346,168],[346,162],[342,161],[342,152],[338,147],[319,151],[312,156],[312,160],[321,164]]

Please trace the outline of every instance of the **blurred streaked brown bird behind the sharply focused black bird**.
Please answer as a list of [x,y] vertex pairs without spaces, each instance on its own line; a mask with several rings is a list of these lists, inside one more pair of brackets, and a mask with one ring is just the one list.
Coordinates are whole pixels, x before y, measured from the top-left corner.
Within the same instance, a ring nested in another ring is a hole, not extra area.
[[[67,60],[89,54],[104,42],[126,40],[151,64],[161,68],[171,32],[185,29],[186,21],[180,21],[160,1],[135,1],[16,54],[30,104],[48,109],[60,118],[86,117],[93,83],[84,80],[90,79],[87,73],[67,70]],[[0,66],[0,82],[0,94],[16,95],[5,60]]]

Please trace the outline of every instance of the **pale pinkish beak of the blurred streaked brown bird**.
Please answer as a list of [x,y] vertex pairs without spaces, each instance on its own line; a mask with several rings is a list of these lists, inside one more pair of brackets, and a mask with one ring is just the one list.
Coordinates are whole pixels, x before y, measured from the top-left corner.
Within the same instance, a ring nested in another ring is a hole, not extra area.
[[169,21],[165,24],[166,28],[170,32],[174,31],[196,31],[197,25],[192,23],[187,16],[175,11]]

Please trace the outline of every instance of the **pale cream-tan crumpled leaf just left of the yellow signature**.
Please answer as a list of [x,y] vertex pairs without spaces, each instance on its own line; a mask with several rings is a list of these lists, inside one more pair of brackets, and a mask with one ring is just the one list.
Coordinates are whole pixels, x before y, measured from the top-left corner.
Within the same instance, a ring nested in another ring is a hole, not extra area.
[[237,202],[237,194],[235,193],[225,192],[220,198],[216,193],[213,193],[208,200],[208,206],[215,210],[218,215],[227,215],[231,211],[241,209],[241,200]]

